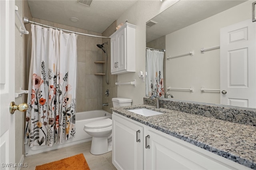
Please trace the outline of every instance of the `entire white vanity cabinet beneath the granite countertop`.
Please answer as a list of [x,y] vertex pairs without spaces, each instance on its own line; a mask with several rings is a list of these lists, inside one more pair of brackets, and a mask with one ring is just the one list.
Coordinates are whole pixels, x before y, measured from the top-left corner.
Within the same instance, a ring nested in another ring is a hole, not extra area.
[[115,112],[112,128],[112,163],[118,170],[250,169]]

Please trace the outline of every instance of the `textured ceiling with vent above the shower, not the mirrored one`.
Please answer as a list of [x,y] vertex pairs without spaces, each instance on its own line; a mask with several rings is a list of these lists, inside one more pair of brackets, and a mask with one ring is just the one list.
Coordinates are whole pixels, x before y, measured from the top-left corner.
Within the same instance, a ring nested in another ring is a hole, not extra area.
[[[77,0],[28,0],[33,18],[102,33],[137,0],[92,0],[89,6]],[[78,22],[70,21],[71,17]]]

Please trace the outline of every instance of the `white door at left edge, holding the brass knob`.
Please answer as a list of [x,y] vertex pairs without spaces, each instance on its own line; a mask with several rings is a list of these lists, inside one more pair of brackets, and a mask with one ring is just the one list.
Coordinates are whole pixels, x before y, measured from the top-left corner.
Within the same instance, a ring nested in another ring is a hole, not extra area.
[[15,169],[14,101],[15,1],[0,0],[0,162],[1,170]]

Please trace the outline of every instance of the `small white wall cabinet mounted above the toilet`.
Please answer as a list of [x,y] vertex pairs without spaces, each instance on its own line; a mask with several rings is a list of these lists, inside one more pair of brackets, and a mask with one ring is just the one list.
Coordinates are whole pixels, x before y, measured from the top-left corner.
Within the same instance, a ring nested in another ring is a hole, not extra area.
[[135,25],[126,23],[110,36],[111,74],[135,72]]

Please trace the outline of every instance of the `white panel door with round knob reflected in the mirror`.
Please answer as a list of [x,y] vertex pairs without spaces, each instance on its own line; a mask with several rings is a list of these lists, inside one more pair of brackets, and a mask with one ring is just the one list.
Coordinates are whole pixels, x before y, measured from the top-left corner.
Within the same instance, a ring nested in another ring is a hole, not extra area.
[[256,23],[251,19],[220,29],[220,104],[256,108]]

